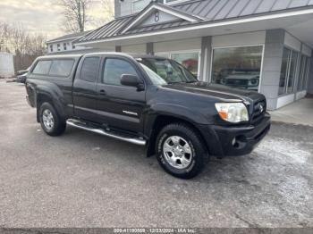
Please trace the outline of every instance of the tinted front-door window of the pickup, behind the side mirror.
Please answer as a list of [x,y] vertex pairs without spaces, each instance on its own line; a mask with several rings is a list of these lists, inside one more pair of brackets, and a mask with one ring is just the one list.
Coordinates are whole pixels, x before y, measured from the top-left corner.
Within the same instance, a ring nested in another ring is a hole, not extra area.
[[137,75],[137,72],[128,63],[122,59],[106,59],[103,82],[109,85],[121,85],[123,74]]

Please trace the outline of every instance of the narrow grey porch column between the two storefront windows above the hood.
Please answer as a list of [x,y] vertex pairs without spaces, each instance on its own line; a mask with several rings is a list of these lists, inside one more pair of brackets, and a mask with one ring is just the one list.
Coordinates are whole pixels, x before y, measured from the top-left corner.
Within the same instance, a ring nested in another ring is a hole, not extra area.
[[201,81],[209,81],[211,74],[212,37],[201,38],[200,75]]

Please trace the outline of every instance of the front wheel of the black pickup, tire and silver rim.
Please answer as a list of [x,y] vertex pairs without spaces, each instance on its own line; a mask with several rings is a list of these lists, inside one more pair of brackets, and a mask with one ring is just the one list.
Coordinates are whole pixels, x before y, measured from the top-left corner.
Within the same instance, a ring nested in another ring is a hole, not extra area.
[[175,177],[191,179],[204,165],[207,149],[199,134],[182,123],[165,126],[157,137],[157,161]]

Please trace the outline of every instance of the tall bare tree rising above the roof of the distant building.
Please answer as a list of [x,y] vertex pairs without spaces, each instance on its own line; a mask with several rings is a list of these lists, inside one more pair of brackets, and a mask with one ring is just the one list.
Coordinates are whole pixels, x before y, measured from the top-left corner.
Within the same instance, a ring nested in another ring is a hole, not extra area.
[[88,10],[92,0],[58,0],[63,7],[64,26],[70,32],[82,32],[89,21]]

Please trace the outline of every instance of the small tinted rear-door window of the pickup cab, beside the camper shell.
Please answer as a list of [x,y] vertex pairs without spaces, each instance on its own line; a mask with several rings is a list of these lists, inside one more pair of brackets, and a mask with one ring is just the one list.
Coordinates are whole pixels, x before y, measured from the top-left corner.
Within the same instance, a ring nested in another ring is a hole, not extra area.
[[99,63],[99,57],[85,58],[80,71],[80,79],[84,79],[89,82],[95,82],[97,80]]

